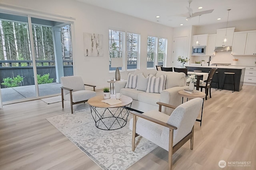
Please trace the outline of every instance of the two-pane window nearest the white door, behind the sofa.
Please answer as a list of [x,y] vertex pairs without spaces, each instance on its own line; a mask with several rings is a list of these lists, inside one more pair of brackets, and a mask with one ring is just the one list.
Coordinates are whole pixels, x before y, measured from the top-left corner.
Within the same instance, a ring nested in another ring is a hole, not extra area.
[[163,65],[166,56],[166,39],[148,36],[147,68]]

